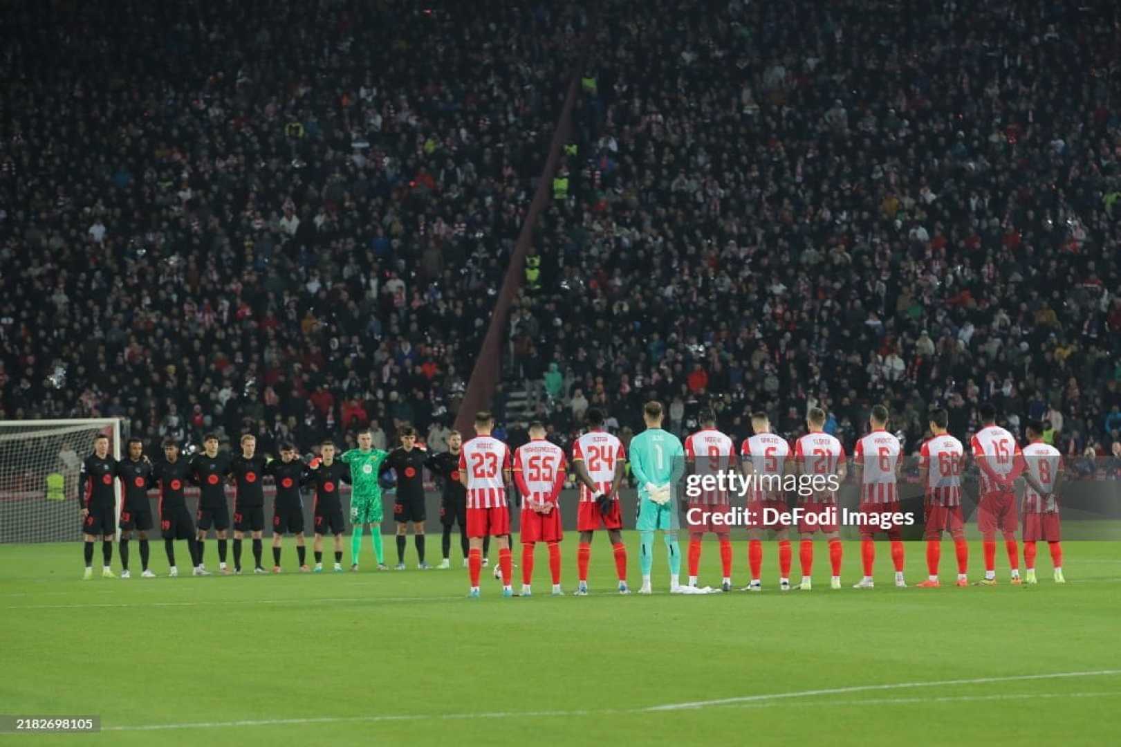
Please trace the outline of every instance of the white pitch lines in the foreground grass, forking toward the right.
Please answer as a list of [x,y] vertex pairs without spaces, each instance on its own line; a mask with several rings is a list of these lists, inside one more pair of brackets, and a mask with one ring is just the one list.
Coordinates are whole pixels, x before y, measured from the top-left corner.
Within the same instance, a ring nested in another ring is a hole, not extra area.
[[[427,719],[436,721],[453,720],[475,720],[475,719],[508,719],[508,718],[572,718],[583,716],[610,716],[610,714],[638,714],[651,712],[674,712],[678,710],[693,710],[713,707],[738,707],[738,708],[770,708],[781,704],[790,698],[813,698],[823,694],[863,692],[870,690],[893,690],[907,688],[939,688],[954,684],[990,684],[995,682],[1018,682],[1023,680],[1055,680],[1060,677],[1080,676],[1108,676],[1121,674],[1121,670],[1102,670],[1099,672],[1056,672],[1051,674],[1025,674],[1003,677],[978,677],[973,680],[942,680],[935,682],[905,682],[897,684],[881,685],[858,685],[853,688],[834,688],[828,690],[804,690],[799,692],[772,693],[765,695],[747,695],[744,698],[730,698],[720,701],[701,701],[697,703],[667,703],[665,706],[651,706],[647,708],[626,709],[586,709],[572,711],[489,711],[475,713],[415,713],[410,716],[401,714],[379,714],[379,716],[325,716],[317,718],[291,718],[291,719],[247,719],[240,721],[193,721],[186,723],[142,723],[131,726],[108,726],[102,727],[102,731],[165,731],[172,729],[224,729],[230,727],[260,727],[260,726],[298,726],[313,723],[373,723],[385,721],[409,721],[414,719]],[[1073,692],[1073,693],[1022,693],[1022,694],[991,694],[991,695],[945,695],[941,698],[881,698],[871,700],[830,700],[817,706],[891,706],[912,703],[937,703],[937,702],[969,702],[986,700],[1026,700],[1037,698],[1121,698],[1119,691],[1099,692]]]

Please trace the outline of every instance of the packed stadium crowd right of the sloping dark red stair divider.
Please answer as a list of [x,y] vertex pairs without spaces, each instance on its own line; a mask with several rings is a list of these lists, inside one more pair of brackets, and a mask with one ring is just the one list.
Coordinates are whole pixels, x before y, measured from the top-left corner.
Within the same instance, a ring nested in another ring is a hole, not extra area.
[[[604,3],[509,326],[571,441],[640,403],[736,443],[991,402],[1121,455],[1121,47],[1106,2]],[[666,19],[673,19],[667,22]],[[498,403],[495,407],[500,407]]]

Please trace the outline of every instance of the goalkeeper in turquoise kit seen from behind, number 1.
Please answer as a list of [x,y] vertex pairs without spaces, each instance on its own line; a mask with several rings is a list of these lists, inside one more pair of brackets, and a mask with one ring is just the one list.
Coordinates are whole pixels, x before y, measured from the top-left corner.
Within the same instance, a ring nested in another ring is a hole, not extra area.
[[642,408],[646,431],[631,439],[631,471],[638,480],[638,531],[641,538],[640,563],[642,588],[640,594],[651,593],[650,568],[654,565],[654,533],[665,534],[669,553],[669,591],[679,593],[678,575],[682,570],[682,551],[677,545],[677,513],[671,505],[673,486],[685,473],[685,450],[671,433],[661,430],[661,404],[648,402]]

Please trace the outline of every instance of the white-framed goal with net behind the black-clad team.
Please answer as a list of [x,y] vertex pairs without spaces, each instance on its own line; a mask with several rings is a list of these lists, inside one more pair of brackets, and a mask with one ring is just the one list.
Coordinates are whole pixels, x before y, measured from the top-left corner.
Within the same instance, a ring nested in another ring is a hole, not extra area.
[[0,543],[82,537],[78,472],[100,434],[120,459],[117,419],[0,421]]

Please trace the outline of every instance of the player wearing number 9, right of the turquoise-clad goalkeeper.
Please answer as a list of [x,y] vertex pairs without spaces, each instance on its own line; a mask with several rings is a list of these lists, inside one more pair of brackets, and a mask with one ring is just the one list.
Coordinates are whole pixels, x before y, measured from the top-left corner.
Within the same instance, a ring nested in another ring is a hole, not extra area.
[[[735,444],[716,430],[716,416],[705,409],[697,418],[701,430],[685,439],[685,463],[692,474],[715,480],[721,473],[735,465]],[[723,573],[721,588],[732,590],[732,540],[731,524],[714,522],[712,514],[728,514],[731,508],[728,490],[703,490],[691,498],[686,507],[686,523],[689,528],[689,585],[697,585],[697,570],[701,566],[701,541],[705,532],[712,532],[720,540],[720,565]],[[706,520],[704,515],[708,514]],[[695,520],[689,517],[697,517]]]

